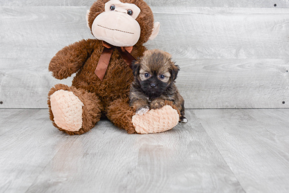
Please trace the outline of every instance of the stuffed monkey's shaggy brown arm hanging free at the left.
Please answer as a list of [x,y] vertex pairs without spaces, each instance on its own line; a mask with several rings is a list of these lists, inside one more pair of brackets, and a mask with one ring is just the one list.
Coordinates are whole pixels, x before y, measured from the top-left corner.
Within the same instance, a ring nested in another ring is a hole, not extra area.
[[65,79],[77,72],[93,52],[95,40],[81,40],[58,51],[49,63],[49,71],[57,79]]

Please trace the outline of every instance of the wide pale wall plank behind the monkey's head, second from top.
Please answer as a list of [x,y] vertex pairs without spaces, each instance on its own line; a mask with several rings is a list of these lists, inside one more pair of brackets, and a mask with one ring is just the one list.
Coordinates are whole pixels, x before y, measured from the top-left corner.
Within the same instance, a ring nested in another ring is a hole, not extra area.
[[[87,9],[0,7],[1,60],[46,61],[68,44],[93,38],[85,23]],[[157,38],[146,45],[168,51],[174,58],[287,59],[289,56],[286,51],[289,9],[152,7],[152,10],[155,21],[161,22],[161,29]]]

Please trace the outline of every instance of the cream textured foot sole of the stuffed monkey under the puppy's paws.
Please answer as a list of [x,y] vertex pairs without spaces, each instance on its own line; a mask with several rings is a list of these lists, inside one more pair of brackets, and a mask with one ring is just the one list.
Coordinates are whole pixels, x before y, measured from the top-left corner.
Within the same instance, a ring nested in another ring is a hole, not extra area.
[[179,122],[177,110],[166,105],[160,109],[152,109],[144,115],[132,116],[135,131],[140,134],[159,133],[172,129]]

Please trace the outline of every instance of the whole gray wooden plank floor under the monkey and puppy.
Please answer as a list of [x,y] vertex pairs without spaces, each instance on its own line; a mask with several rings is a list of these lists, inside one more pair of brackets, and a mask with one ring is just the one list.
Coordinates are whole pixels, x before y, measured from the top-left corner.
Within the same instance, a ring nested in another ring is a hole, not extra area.
[[186,115],[159,134],[102,120],[69,136],[47,109],[0,109],[0,192],[288,192],[289,109]]

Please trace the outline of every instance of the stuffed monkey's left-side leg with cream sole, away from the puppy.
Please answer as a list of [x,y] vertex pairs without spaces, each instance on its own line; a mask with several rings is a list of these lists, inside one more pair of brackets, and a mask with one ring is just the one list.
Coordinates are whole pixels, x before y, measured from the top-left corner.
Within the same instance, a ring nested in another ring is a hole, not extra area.
[[83,134],[99,121],[103,107],[94,93],[57,84],[48,93],[50,120],[67,134]]

